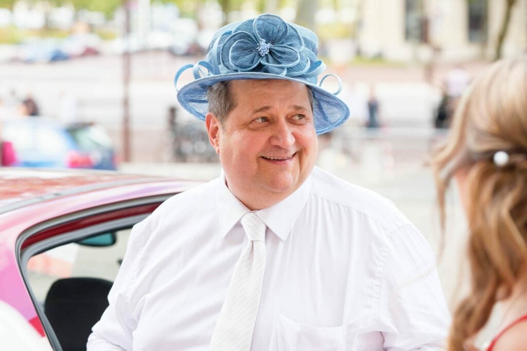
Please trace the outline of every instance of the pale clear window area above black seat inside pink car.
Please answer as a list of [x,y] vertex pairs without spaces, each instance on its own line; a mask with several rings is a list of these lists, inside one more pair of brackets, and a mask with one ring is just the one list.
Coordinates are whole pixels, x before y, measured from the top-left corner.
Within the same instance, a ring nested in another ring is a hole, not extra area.
[[44,251],[27,262],[27,279],[41,306],[52,284],[58,279],[92,277],[108,281],[115,279],[126,251],[130,230],[115,232],[111,246],[83,246],[72,242]]

